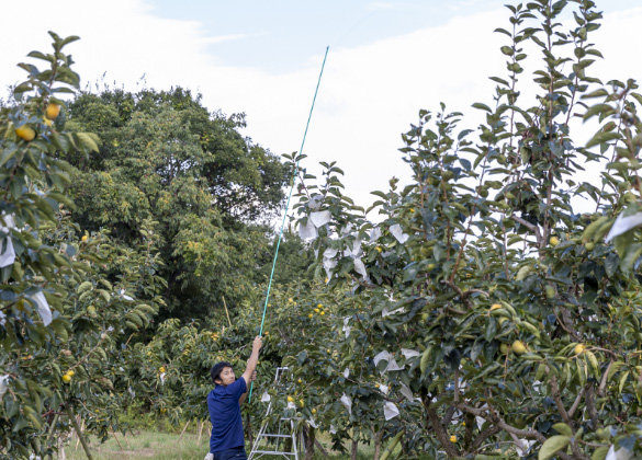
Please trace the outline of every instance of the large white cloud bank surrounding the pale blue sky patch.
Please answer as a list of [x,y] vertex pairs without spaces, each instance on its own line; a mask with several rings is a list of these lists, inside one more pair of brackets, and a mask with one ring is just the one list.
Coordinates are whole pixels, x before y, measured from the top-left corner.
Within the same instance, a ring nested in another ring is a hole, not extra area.
[[[212,111],[246,112],[246,134],[255,141],[277,153],[300,149],[325,48],[313,50],[295,71],[270,73],[254,67],[251,56],[244,67],[221,65],[207,46],[243,39],[243,34],[209,37],[200,22],[155,16],[140,0],[91,7],[64,0],[55,9],[44,0],[30,4],[29,21],[8,21],[0,30],[0,41],[14,44],[3,49],[1,85],[22,77],[15,64],[32,49],[46,50],[45,31],[54,28],[81,36],[69,50],[86,82],[106,71],[106,81],[132,90],[143,74],[153,88],[191,88],[203,93]],[[7,18],[19,18],[22,7],[9,2],[3,11]],[[330,49],[303,166],[318,172],[318,161],[338,161],[347,174],[347,194],[365,205],[371,191],[387,188],[391,176],[409,177],[397,149],[401,133],[417,120],[419,108],[435,111],[443,101],[448,111],[466,114],[462,126],[482,122],[470,106],[492,103],[494,83],[487,77],[506,74],[498,50],[505,37],[493,30],[506,26],[507,18],[506,10],[489,11],[357,48]],[[605,19],[594,41],[607,59],[595,67],[608,77],[605,81],[642,79],[642,61],[634,54],[640,22],[640,8]],[[522,74],[521,80],[530,77]]]

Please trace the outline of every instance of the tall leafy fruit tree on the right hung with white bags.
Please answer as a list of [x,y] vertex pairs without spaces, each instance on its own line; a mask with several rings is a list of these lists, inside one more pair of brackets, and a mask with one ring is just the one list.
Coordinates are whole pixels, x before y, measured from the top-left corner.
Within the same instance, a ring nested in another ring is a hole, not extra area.
[[[414,181],[374,192],[376,223],[325,164],[325,183],[308,176],[299,195],[301,234],[329,288],[359,299],[337,314],[369,340],[343,357],[371,347],[421,402],[407,455],[640,456],[642,96],[589,74],[601,57],[593,1],[508,9],[496,30],[507,74],[492,78],[491,104],[474,104],[485,123],[462,130],[444,105],[420,111],[401,149]],[[520,96],[527,47],[543,62],[534,104]],[[578,145],[577,118],[596,116],[599,131]],[[589,162],[605,165],[600,181],[583,173]],[[581,199],[595,211],[576,210]]]

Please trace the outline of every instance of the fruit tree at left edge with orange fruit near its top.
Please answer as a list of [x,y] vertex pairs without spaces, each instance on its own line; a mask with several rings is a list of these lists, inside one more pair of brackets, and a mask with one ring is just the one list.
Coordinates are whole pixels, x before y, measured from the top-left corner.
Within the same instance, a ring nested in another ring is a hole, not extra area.
[[61,95],[79,77],[64,47],[30,57],[48,69],[21,64],[29,78],[0,112],[0,455],[44,457],[74,426],[87,455],[87,430],[117,429],[127,392],[127,337],[147,326],[162,304],[154,237],[143,222],[136,250],[113,244],[71,219],[65,194],[70,166],[60,158],[98,151],[94,135],[65,131]]

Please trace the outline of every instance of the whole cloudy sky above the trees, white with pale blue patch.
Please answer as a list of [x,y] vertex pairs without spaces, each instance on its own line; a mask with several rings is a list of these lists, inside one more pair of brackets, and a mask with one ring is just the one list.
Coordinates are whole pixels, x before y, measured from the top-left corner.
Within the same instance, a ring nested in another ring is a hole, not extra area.
[[[21,79],[15,65],[29,51],[47,50],[48,30],[79,35],[68,53],[85,88],[189,88],[212,112],[245,113],[244,135],[281,154],[301,148],[329,46],[302,166],[318,174],[319,161],[337,161],[346,194],[368,206],[392,176],[409,180],[397,149],[420,108],[444,102],[464,113],[462,128],[482,123],[471,105],[492,104],[487,77],[506,77],[498,48],[507,37],[493,32],[508,26],[506,1],[32,0],[27,16],[5,1],[3,16],[22,20],[0,27],[0,87]],[[642,3],[597,7],[605,19],[594,43],[605,60],[594,74],[642,80]],[[521,77],[525,97],[532,69]]]

